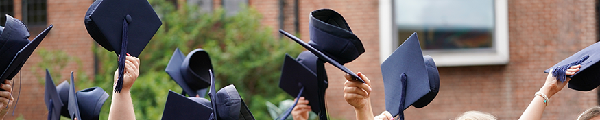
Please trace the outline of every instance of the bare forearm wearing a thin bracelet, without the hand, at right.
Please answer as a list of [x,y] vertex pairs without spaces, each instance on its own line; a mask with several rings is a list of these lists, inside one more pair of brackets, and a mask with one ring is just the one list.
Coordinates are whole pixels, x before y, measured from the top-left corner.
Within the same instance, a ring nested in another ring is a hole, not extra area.
[[[540,93],[543,93],[544,95],[549,95],[549,91],[547,90],[547,88],[542,87],[540,89]],[[548,96],[550,97],[550,96]],[[529,106],[527,106],[527,108],[525,108],[525,111],[523,112],[523,115],[521,115],[521,117],[519,117],[519,119],[542,119],[542,114],[544,113],[544,109],[546,109],[546,104],[544,103],[544,97],[541,97],[540,95],[536,95],[535,97],[533,97],[533,100],[531,101],[531,103],[529,104]]]

